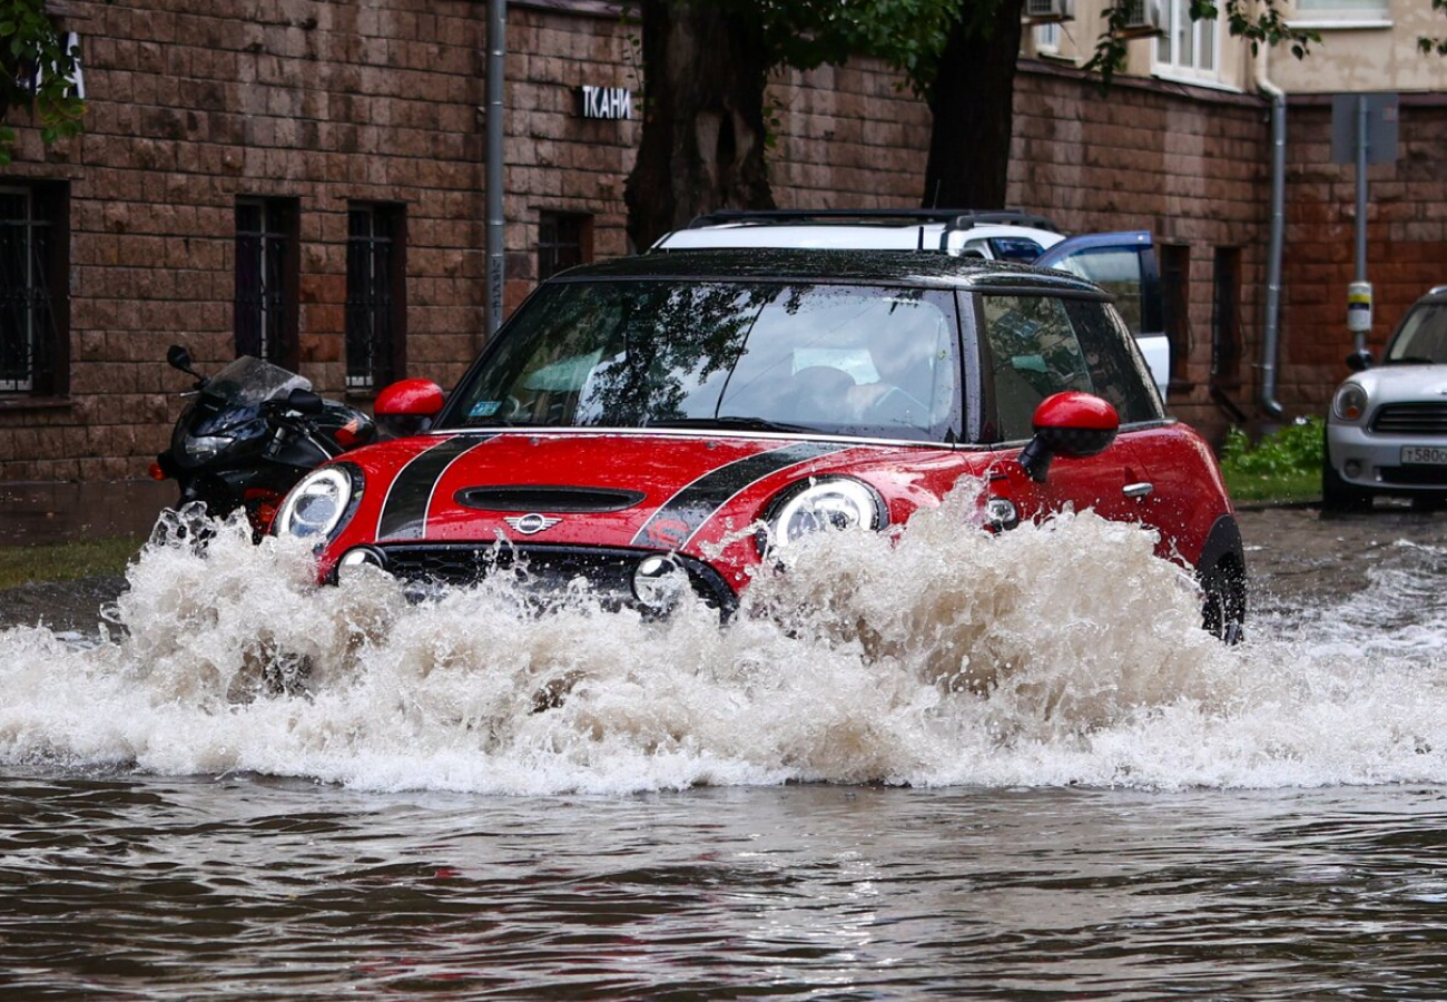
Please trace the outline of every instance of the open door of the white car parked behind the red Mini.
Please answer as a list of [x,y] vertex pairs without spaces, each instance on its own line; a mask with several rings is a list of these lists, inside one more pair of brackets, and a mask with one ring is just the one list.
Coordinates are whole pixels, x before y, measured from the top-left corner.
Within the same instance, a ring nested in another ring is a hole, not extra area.
[[1072,236],[1042,253],[1035,264],[1079,275],[1116,297],[1116,308],[1136,336],[1156,391],[1165,400],[1171,381],[1171,343],[1160,301],[1160,268],[1150,233],[1124,230]]

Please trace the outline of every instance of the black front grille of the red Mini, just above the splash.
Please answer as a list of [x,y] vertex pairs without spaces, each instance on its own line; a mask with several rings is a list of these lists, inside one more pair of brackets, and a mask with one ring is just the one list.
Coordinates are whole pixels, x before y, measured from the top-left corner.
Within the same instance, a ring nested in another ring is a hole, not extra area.
[[614,604],[634,604],[632,573],[650,556],[671,556],[709,605],[731,614],[738,597],[724,576],[693,557],[660,550],[592,546],[502,546],[493,543],[407,543],[375,547],[392,575],[420,584],[475,585],[498,572],[518,572],[528,585],[557,591],[576,578]]

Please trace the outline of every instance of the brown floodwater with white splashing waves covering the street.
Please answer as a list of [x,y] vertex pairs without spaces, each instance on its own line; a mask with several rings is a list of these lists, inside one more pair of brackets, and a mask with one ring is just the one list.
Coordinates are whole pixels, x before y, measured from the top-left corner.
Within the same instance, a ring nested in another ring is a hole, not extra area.
[[149,552],[0,631],[0,998],[1447,995],[1447,515],[1244,513],[1224,649],[964,510],[725,628]]

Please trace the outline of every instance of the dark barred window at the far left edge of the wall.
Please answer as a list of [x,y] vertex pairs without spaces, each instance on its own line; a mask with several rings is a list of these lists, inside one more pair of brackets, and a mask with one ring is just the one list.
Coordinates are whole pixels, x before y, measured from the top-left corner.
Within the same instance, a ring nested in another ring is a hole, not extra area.
[[0,392],[64,394],[69,266],[64,185],[0,187]]

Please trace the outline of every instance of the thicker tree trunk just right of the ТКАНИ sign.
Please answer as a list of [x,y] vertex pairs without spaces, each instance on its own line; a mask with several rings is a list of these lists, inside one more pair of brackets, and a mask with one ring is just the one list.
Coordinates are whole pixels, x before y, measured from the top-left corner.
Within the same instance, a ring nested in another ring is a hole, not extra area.
[[716,209],[773,209],[758,23],[725,4],[642,1],[644,120],[624,201],[637,250]]

